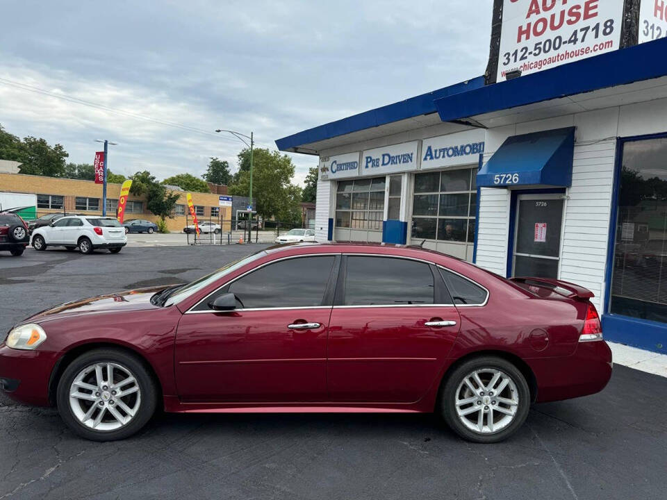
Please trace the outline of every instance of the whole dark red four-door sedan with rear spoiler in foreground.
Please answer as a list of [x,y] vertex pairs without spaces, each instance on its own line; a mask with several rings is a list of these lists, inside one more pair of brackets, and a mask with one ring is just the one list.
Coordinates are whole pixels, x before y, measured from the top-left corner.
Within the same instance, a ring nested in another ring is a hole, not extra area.
[[0,385],[92,440],[167,412],[438,412],[496,442],[611,376],[591,292],[413,247],[295,244],[188,285],[65,303],[0,344]]

